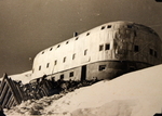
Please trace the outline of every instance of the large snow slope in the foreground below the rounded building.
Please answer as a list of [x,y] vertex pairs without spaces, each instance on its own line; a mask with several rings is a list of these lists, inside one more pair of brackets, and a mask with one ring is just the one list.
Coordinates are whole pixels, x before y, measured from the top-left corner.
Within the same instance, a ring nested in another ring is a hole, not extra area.
[[153,116],[162,108],[162,65],[125,74],[80,88],[56,100],[58,94],[30,100],[5,109],[13,115],[53,116]]

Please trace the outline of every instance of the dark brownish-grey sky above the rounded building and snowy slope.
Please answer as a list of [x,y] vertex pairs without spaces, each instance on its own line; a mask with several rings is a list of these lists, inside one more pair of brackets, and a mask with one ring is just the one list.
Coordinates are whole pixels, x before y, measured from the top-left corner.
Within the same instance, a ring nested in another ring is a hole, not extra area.
[[32,68],[36,54],[95,26],[132,21],[162,37],[156,0],[0,0],[0,77]]

